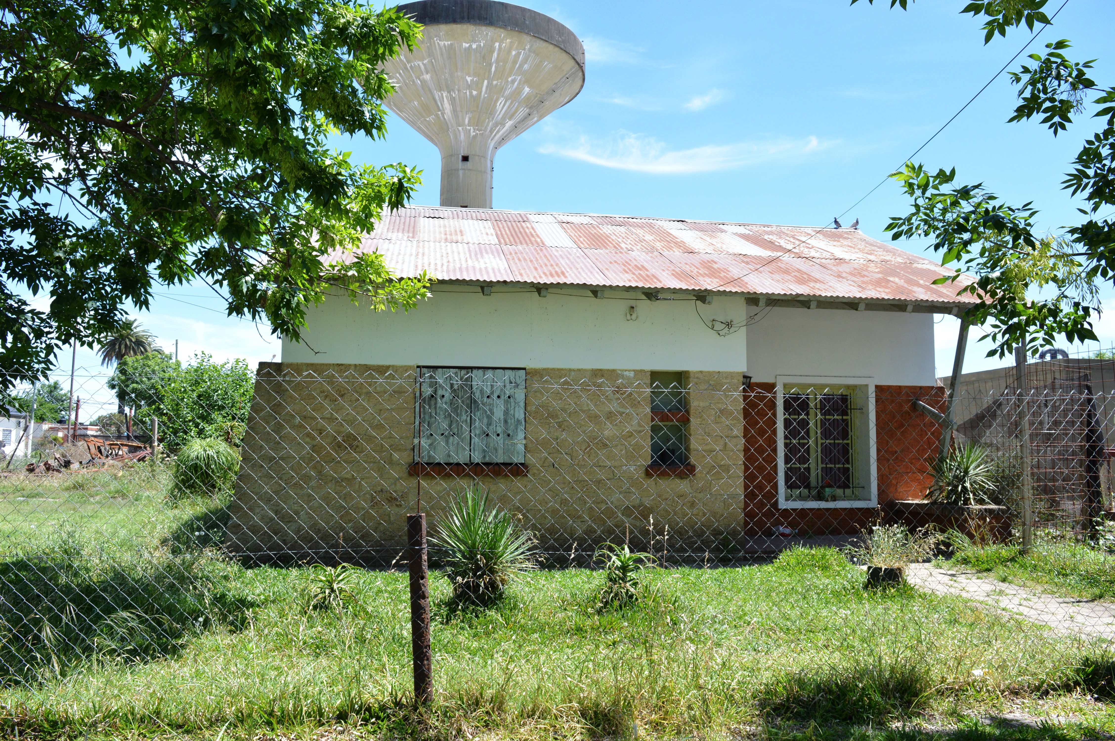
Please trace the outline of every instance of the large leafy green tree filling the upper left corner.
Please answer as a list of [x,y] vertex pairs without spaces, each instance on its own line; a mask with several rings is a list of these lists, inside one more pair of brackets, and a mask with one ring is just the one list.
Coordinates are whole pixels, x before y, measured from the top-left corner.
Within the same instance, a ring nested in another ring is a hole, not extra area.
[[159,284],[294,341],[327,291],[428,295],[353,253],[419,173],[328,146],[386,134],[382,65],[419,28],[343,0],[0,0],[0,394]]

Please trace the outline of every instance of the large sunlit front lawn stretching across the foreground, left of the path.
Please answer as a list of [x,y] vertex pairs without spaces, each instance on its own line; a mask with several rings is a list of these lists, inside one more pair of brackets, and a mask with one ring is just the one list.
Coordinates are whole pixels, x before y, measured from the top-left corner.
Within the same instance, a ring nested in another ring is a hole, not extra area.
[[[353,606],[307,614],[310,569],[244,568],[211,547],[219,506],[166,500],[155,466],[95,476],[107,478],[0,480],[9,733],[17,719],[22,734],[71,738],[341,722],[446,739],[820,739],[1112,694],[1097,643],[959,598],[865,589],[859,568],[817,548],[653,569],[653,596],[626,611],[594,608],[590,569],[530,573],[495,608],[465,613],[435,575],[436,699],[415,712],[405,574],[353,572]],[[1024,737],[1098,732],[1080,728]]]

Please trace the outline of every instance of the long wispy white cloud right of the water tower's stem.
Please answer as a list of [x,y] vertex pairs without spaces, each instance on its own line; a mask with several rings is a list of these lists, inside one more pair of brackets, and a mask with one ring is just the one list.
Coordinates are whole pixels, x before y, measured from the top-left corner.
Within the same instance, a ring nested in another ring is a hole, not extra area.
[[539,152],[580,159],[601,167],[655,175],[683,175],[734,169],[776,159],[792,159],[821,152],[834,144],[835,142],[822,142],[815,136],[799,139],[773,137],[670,150],[665,143],[655,137],[620,131],[607,142],[582,135],[565,144],[545,144]]

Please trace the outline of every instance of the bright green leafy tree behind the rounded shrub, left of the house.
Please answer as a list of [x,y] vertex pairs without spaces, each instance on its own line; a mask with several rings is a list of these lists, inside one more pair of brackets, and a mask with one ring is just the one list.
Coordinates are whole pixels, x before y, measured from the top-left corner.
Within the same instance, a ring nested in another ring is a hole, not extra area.
[[217,438],[240,445],[252,408],[255,374],[243,359],[213,362],[197,353],[193,362],[164,377],[158,404],[139,415],[158,417],[159,439],[176,449],[193,438]]

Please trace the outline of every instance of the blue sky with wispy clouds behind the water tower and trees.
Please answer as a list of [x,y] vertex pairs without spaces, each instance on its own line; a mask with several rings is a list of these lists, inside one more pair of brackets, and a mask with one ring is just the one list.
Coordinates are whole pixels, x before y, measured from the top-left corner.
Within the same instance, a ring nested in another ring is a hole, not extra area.
[[[823,225],[901,165],[1029,36],[1016,30],[985,46],[979,22],[959,14],[966,0],[919,0],[908,12],[888,0],[523,4],[584,40],[586,81],[496,156],[497,208]],[[1094,77],[1111,84],[1112,28],[1111,0],[1069,0],[1029,51],[1070,39],[1070,57],[1098,58]],[[982,181],[1010,202],[1034,201],[1045,228],[1070,224],[1077,204],[1058,183],[1094,129],[1084,121],[1055,139],[1037,123],[1007,124],[1015,105],[1004,75],[918,160],[956,166],[960,179]],[[437,149],[403,121],[392,119],[386,140],[338,146],[357,162],[424,169],[415,203],[437,204]],[[886,183],[844,223],[859,218],[867,234],[889,240],[888,217],[906,207]],[[180,340],[182,355],[204,350],[254,365],[280,352],[266,328],[223,314],[207,289],[185,286],[164,291],[139,319],[164,348]],[[943,374],[956,322],[937,329]],[[1115,343],[1115,314],[1098,332],[1104,345]],[[983,345],[973,342],[966,370],[1000,364],[982,358]],[[80,350],[78,364],[96,359]]]

